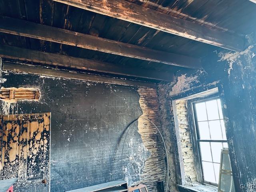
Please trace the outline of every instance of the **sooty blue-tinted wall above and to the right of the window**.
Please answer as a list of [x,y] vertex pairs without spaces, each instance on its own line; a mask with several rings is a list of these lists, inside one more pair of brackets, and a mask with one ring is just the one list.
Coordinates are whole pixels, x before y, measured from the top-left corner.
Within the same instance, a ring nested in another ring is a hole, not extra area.
[[256,45],[243,52],[216,51],[202,63],[204,70],[178,74],[170,100],[218,87],[236,192],[255,191]]

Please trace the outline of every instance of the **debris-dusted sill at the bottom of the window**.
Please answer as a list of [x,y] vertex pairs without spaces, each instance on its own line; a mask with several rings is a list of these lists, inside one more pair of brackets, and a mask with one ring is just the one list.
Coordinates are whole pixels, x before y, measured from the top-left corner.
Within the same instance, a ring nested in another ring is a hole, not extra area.
[[218,187],[209,185],[177,185],[180,192],[218,192]]

